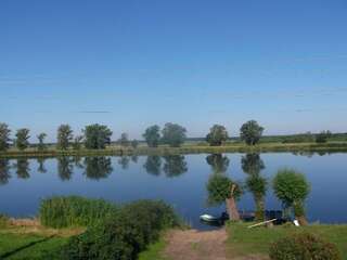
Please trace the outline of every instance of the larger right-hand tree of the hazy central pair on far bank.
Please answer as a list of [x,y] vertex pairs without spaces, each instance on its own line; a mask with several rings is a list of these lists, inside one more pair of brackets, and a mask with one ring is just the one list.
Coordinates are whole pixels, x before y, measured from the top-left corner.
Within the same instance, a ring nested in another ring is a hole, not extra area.
[[178,123],[167,122],[162,130],[163,142],[171,147],[179,147],[185,140],[185,128]]

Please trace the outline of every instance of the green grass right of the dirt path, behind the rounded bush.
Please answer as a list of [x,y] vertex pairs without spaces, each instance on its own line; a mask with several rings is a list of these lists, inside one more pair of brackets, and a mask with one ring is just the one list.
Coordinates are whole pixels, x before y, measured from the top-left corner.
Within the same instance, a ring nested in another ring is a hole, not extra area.
[[270,245],[286,235],[310,232],[335,244],[343,259],[347,260],[347,225],[309,225],[274,226],[272,229],[247,229],[249,223],[230,223],[228,230],[227,251],[230,256],[264,255],[267,256]]

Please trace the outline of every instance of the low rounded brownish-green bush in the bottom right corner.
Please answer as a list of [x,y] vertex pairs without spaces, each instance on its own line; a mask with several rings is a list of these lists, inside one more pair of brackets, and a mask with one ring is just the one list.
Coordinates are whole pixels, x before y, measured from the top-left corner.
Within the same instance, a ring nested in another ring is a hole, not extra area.
[[272,260],[342,259],[334,244],[308,233],[292,235],[273,243],[269,255]]

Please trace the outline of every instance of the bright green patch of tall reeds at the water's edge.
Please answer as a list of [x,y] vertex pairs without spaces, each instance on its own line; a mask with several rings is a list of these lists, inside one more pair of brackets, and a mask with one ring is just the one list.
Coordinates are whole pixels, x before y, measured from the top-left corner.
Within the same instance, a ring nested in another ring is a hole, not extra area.
[[42,225],[60,229],[88,226],[116,211],[117,207],[114,204],[103,199],[62,196],[43,199],[39,217]]

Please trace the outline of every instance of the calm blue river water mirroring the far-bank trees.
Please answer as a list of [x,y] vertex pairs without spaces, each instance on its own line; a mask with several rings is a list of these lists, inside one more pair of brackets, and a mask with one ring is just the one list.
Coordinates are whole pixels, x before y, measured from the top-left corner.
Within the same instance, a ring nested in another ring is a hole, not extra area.
[[[169,203],[193,227],[205,230],[209,227],[200,222],[200,214],[224,210],[224,206],[207,206],[206,183],[210,174],[219,172],[244,182],[249,172],[258,172],[271,183],[282,167],[304,172],[311,183],[307,200],[310,221],[347,223],[345,153],[0,159],[0,212],[34,217],[40,199],[52,195],[81,195],[115,203],[151,198]],[[253,210],[254,206],[249,193],[239,202],[243,210]],[[271,187],[266,208],[281,209]]]

